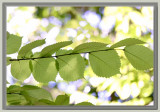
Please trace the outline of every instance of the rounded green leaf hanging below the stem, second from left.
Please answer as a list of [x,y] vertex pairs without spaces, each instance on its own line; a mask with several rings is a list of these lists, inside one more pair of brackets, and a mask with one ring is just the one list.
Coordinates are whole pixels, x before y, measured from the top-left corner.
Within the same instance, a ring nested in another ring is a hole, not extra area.
[[56,61],[54,58],[35,59],[33,64],[33,76],[36,81],[48,83],[54,81],[57,75]]

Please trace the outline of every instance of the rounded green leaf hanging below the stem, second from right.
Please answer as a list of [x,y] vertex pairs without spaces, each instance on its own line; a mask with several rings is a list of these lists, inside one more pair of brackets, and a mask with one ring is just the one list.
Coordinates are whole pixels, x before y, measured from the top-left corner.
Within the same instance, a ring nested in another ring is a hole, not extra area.
[[101,77],[111,77],[120,73],[120,59],[115,50],[99,51],[89,54],[93,72]]

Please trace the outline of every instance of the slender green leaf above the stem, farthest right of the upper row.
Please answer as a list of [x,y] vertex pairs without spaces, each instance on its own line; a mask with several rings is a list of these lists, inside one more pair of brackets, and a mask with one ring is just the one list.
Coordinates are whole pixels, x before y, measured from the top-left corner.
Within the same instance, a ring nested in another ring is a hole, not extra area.
[[144,44],[145,42],[135,39],[135,38],[127,38],[124,40],[121,40],[111,46],[111,48],[117,48],[117,47],[122,47],[122,46],[130,46],[130,45],[135,45],[135,44]]

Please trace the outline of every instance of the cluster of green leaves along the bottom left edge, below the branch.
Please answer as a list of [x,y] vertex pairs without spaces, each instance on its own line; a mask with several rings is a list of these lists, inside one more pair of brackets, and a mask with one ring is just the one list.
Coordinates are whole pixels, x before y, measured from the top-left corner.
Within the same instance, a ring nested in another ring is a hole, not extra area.
[[[8,105],[70,105],[68,95],[59,95],[56,99],[53,99],[51,94],[37,86],[24,85],[22,87],[12,85],[7,88],[7,104]],[[76,104],[81,105],[93,105],[88,102],[81,102]],[[75,105],[75,104],[73,104]]]

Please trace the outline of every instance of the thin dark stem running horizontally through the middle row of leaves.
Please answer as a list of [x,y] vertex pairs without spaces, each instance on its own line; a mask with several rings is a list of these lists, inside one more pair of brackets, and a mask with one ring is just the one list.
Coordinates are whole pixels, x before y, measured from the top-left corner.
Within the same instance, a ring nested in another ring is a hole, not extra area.
[[37,58],[22,58],[22,59],[10,59],[9,61],[20,61],[20,60],[35,60],[35,59],[43,59],[43,58],[53,58],[53,57],[60,57],[66,55],[75,55],[75,54],[82,54],[82,53],[92,53],[92,52],[99,52],[99,51],[109,51],[109,50],[124,50],[124,49],[105,49],[105,50],[97,50],[97,51],[90,51],[90,52],[81,52],[81,53],[70,53],[70,54],[63,54],[57,56],[48,56],[48,57],[37,57]]

